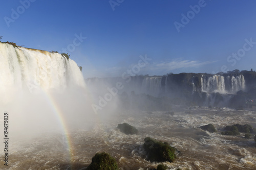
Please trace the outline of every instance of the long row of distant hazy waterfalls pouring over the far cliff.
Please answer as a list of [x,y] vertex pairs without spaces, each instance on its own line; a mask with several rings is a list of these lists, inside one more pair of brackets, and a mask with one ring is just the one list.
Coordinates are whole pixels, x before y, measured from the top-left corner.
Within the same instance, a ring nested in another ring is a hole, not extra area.
[[[126,81],[129,80],[129,81]],[[124,88],[119,93],[134,91],[136,94],[149,94],[155,97],[187,96],[197,92],[234,94],[245,90],[245,78],[238,75],[202,75],[193,73],[174,74],[168,76],[134,76],[128,78],[91,78],[87,79],[87,86],[96,93],[107,93],[107,88],[122,82]],[[105,87],[104,87],[105,86]],[[97,89],[97,90],[95,90]]]

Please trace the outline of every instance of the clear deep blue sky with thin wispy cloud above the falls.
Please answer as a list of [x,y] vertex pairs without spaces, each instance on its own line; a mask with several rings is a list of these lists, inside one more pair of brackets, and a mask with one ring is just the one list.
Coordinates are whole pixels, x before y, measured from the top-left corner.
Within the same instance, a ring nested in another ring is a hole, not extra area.
[[[255,70],[255,7],[253,0],[2,1],[0,35],[40,50],[70,47],[84,78],[121,76],[145,55],[151,60],[138,75]],[[71,48],[80,35],[86,39]]]

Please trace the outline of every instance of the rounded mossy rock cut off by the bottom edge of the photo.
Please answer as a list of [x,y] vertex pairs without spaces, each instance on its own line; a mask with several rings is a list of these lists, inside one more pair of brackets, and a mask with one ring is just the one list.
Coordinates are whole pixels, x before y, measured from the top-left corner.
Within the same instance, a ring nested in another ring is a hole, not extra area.
[[86,168],[87,170],[113,170],[118,169],[116,160],[110,154],[102,152],[97,153],[92,158],[92,163]]

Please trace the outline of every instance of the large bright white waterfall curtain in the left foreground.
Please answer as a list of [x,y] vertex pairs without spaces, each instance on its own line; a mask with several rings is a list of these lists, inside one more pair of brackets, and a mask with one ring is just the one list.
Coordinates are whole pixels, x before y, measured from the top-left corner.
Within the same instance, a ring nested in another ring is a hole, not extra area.
[[77,64],[58,53],[0,43],[0,64],[3,101],[17,91],[60,90],[72,85],[85,87]]

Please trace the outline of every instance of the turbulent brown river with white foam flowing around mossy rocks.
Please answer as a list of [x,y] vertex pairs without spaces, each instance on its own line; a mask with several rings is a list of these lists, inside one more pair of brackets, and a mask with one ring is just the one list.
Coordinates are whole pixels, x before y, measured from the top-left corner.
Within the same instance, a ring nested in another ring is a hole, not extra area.
[[[97,152],[111,154],[120,169],[153,169],[158,162],[145,160],[145,137],[166,141],[178,150],[177,159],[164,162],[168,169],[256,169],[256,144],[238,136],[220,132],[227,125],[250,124],[256,127],[256,111],[228,108],[184,108],[173,106],[174,116],[165,112],[119,111],[115,117],[102,121],[101,115],[87,129],[59,133],[42,133],[10,144],[9,169],[86,169]],[[117,129],[128,123],[139,130],[138,135],[125,135]],[[198,128],[213,124],[217,133]],[[27,132],[29,133],[29,131]],[[66,147],[66,145],[70,145]],[[0,168],[4,169],[3,160]]]

